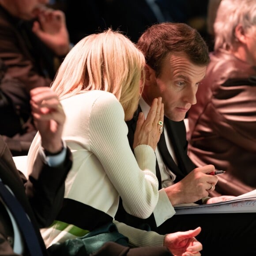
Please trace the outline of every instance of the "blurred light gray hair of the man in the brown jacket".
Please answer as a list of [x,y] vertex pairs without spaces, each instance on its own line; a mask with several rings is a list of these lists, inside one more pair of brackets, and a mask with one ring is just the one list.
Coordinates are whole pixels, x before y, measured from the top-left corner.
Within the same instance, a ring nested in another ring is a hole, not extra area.
[[256,25],[256,0],[222,0],[214,23],[215,50],[232,48],[235,28],[241,24],[246,31]]

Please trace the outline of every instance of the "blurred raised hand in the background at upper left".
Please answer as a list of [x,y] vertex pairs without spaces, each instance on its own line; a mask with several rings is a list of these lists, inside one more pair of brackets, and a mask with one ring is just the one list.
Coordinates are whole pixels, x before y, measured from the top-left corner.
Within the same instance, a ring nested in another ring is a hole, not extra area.
[[69,34],[63,11],[42,6],[38,9],[38,21],[34,22],[32,31],[58,56],[69,52]]

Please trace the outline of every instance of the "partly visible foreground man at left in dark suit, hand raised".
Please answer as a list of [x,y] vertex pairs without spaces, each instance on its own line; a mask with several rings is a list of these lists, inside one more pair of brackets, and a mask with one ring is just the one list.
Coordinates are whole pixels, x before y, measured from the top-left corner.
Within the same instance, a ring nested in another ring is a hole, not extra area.
[[[41,91],[35,90],[31,91],[31,97],[34,118],[42,139],[41,153],[38,154],[32,173],[26,179],[23,173],[17,171],[11,152],[0,136],[0,179],[30,218],[42,255],[47,255],[39,228],[49,226],[62,205],[64,180],[72,166],[72,158],[70,150],[63,146],[61,139],[65,114],[58,98],[47,87]],[[0,208],[0,255],[29,255],[26,234],[2,193]],[[18,215],[20,214],[21,211]]]

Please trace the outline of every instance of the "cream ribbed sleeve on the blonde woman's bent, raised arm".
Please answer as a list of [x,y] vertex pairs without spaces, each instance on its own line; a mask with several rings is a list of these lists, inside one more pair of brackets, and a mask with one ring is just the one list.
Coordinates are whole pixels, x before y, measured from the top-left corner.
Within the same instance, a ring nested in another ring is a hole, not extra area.
[[90,150],[101,162],[120,194],[125,211],[148,218],[158,202],[158,180],[154,150],[147,145],[136,149],[138,162],[128,143],[124,110],[113,94],[99,97],[89,119]]

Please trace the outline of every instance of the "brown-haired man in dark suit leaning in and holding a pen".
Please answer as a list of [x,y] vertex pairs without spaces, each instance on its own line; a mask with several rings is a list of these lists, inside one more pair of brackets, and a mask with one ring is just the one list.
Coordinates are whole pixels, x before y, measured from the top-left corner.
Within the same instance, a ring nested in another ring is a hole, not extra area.
[[[162,97],[165,110],[165,118],[160,120],[163,132],[155,151],[159,200],[146,220],[125,213],[121,202],[115,218],[130,226],[145,228],[148,224],[161,234],[201,226],[198,238],[203,245],[202,255],[256,254],[256,213],[175,215],[173,208],[181,203],[214,203],[229,198],[209,197],[218,181],[209,175],[214,166],[196,168],[187,154],[184,118],[191,105],[196,104],[196,91],[209,63],[207,45],[196,30],[182,23],[153,25],[137,45],[146,59],[138,111],[147,116],[157,97]],[[136,117],[127,124],[132,147]],[[230,247],[231,243],[236,246]]]

